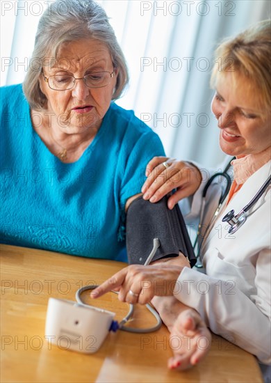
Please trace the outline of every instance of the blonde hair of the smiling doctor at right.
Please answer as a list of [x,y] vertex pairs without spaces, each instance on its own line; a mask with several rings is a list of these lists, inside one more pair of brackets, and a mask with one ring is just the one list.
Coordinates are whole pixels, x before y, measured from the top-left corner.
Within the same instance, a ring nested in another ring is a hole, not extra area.
[[234,38],[224,40],[215,51],[211,87],[215,88],[218,73],[229,73],[234,82],[245,77],[258,95],[265,110],[271,104],[271,20],[258,22]]

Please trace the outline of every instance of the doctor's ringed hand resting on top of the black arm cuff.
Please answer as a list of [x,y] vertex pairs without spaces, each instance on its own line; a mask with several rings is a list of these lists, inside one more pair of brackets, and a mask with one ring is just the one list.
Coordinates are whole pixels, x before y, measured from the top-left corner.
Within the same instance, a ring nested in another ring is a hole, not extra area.
[[142,186],[143,199],[157,202],[176,189],[168,198],[167,207],[173,209],[182,198],[194,194],[202,182],[202,174],[190,162],[169,157],[154,157],[146,168],[147,180]]

